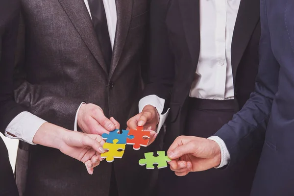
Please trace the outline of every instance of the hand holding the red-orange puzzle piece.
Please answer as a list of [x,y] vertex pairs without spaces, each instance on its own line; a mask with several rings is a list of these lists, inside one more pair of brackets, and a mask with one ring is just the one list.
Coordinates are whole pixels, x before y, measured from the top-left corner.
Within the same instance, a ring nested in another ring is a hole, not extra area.
[[157,129],[159,123],[159,115],[155,107],[152,105],[146,105],[142,112],[136,116],[130,118],[127,124],[127,130],[137,129],[137,126],[144,126],[145,130],[150,131],[150,139],[148,145],[152,144],[156,139],[157,133],[154,131]]

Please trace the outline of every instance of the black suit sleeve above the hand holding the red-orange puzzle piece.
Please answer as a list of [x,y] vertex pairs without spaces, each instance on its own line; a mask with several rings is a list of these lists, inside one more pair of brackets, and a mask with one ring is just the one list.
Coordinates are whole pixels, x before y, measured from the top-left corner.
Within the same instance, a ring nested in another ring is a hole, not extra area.
[[170,49],[166,15],[168,0],[151,0],[150,5],[150,59],[147,84],[143,97],[156,95],[165,99],[166,113],[171,99],[174,79],[174,57]]

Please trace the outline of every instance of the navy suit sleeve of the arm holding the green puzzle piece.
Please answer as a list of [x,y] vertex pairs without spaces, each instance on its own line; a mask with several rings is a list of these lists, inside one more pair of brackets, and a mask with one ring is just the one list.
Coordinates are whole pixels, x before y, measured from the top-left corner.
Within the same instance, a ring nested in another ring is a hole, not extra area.
[[251,149],[264,143],[272,102],[278,91],[280,66],[271,49],[265,0],[261,0],[260,7],[262,35],[255,91],[233,120],[215,134],[226,144],[231,157],[230,164],[239,162]]

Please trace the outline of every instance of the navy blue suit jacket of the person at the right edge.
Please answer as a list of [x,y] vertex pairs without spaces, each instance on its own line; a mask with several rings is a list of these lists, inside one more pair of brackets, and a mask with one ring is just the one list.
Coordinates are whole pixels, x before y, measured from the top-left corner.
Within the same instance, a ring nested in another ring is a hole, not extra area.
[[260,1],[255,91],[216,135],[230,152],[230,164],[238,164],[255,145],[264,143],[252,196],[294,196],[294,0]]

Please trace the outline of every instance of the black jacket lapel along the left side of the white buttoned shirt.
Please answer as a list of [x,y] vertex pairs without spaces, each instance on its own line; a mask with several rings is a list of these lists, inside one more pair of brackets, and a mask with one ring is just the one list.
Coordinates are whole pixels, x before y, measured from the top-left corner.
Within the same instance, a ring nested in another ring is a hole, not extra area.
[[200,7],[199,0],[178,0],[186,41],[192,58],[193,67],[197,68],[200,52]]

